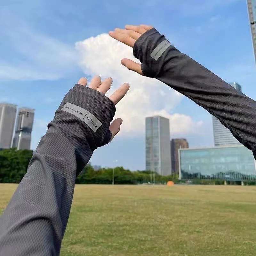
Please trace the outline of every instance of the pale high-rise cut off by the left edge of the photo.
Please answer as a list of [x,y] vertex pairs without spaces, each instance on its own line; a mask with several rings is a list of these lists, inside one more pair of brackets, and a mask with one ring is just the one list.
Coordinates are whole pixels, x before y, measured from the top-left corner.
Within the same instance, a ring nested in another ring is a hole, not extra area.
[[0,103],[0,148],[11,148],[17,106]]

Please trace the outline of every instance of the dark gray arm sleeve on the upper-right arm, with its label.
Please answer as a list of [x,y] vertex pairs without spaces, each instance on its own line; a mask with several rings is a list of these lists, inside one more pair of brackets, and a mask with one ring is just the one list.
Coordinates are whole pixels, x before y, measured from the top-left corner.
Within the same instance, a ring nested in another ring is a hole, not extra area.
[[134,56],[145,76],[184,94],[217,117],[256,158],[256,102],[179,52],[155,28],[135,42]]

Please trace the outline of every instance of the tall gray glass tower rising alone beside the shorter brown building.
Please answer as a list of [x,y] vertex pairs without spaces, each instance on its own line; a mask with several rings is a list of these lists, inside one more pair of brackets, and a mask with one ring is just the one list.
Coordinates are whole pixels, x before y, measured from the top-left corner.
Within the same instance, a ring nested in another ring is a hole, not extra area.
[[146,118],[146,170],[170,175],[170,121],[162,116]]

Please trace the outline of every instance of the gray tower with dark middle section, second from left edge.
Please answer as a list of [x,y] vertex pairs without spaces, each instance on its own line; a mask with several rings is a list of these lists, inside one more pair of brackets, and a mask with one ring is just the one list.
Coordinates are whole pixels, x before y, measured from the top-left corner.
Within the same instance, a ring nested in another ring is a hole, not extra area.
[[13,138],[13,148],[30,149],[31,132],[34,122],[35,109],[19,108],[16,121],[15,135]]

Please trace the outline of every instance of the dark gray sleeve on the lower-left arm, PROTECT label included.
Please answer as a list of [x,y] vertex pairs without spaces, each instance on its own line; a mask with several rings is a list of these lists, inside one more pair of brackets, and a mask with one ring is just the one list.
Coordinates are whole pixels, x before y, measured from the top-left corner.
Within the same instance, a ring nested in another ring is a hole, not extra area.
[[76,176],[110,140],[115,111],[91,88],[76,84],[67,93],[0,217],[0,255],[60,254]]

